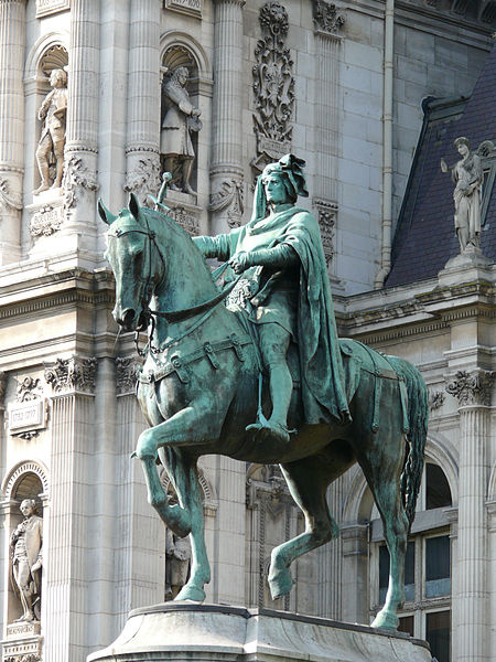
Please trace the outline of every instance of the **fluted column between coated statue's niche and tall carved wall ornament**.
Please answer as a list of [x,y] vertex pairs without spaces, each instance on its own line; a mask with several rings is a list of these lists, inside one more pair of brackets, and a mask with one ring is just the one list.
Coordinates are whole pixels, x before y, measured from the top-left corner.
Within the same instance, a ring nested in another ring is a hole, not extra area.
[[242,7],[245,0],[215,0],[214,100],[212,118],[212,232],[241,223]]

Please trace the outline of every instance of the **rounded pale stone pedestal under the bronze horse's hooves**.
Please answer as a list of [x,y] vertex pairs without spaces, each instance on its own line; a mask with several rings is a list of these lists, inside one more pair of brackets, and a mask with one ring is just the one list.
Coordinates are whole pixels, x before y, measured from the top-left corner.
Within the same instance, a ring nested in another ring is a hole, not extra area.
[[168,602],[136,609],[120,637],[87,662],[431,662],[407,634],[287,611]]

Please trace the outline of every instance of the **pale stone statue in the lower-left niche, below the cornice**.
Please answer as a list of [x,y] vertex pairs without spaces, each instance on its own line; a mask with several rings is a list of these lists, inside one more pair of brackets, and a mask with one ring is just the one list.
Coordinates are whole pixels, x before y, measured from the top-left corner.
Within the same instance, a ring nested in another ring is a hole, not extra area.
[[43,520],[34,514],[35,508],[32,499],[24,499],[25,519],[10,536],[13,586],[24,610],[20,621],[37,620],[40,613]]

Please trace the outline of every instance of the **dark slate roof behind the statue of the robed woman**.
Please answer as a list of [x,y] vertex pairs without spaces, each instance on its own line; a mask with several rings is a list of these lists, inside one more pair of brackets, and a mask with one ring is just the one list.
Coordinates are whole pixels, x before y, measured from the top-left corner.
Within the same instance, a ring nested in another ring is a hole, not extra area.
[[[417,146],[407,191],[392,243],[392,268],[385,287],[436,276],[460,252],[454,234],[453,189],[450,174],[441,171],[460,160],[453,147],[459,136],[476,150],[484,140],[496,145],[496,44],[481,72],[470,99],[427,99],[424,122]],[[496,153],[483,164],[492,167],[483,189],[481,247],[496,260]],[[493,174],[492,174],[493,172]],[[487,205],[487,206],[486,206]],[[484,218],[485,216],[485,218]]]

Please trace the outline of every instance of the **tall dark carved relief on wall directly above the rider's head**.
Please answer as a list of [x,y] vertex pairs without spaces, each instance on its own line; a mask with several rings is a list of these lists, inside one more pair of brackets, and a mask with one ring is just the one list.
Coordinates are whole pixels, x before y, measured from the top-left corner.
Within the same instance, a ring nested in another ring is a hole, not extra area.
[[289,29],[284,7],[269,0],[260,9],[259,21],[262,39],[257,42],[257,64],[252,68],[257,137],[257,159],[252,164],[262,170],[266,163],[291,151],[294,74],[290,50],[284,47]]

